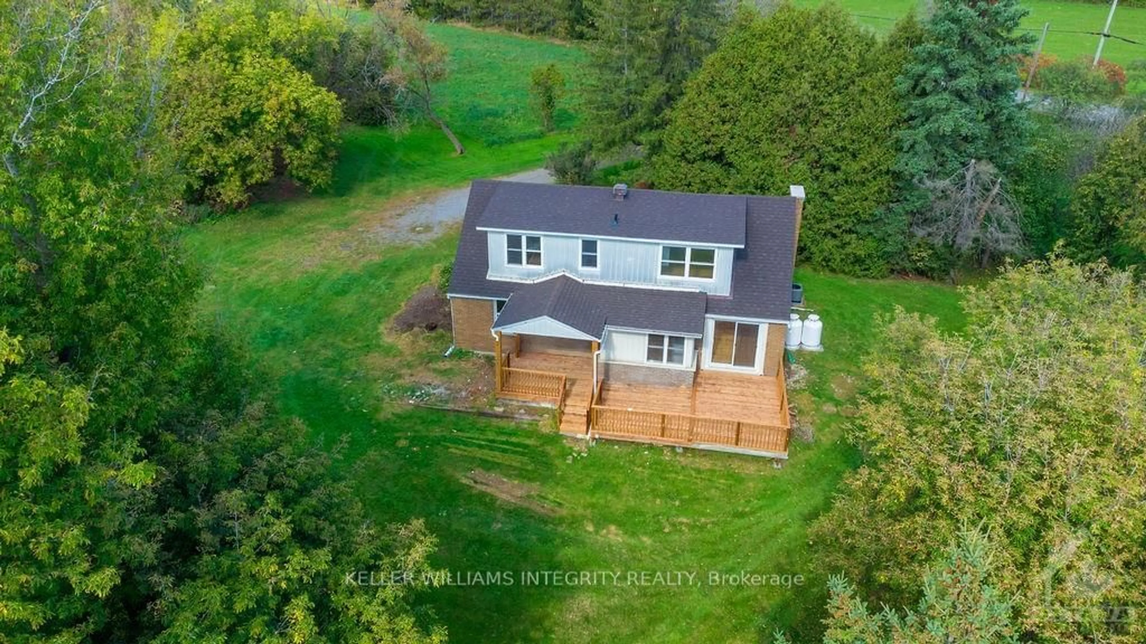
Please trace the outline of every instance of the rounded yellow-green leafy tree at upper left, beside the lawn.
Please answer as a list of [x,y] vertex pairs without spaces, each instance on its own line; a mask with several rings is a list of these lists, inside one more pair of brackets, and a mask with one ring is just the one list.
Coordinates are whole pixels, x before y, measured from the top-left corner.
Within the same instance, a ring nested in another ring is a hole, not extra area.
[[225,206],[280,172],[321,188],[333,170],[342,107],[276,52],[276,15],[210,5],[179,39],[167,118],[193,188]]

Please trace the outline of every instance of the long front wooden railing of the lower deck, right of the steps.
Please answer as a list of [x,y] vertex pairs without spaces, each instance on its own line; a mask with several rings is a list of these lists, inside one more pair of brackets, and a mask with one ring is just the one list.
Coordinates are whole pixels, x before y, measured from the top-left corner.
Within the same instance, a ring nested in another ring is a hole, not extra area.
[[680,445],[712,443],[786,453],[788,427],[731,418],[638,411],[595,405],[592,433],[603,438],[647,439]]

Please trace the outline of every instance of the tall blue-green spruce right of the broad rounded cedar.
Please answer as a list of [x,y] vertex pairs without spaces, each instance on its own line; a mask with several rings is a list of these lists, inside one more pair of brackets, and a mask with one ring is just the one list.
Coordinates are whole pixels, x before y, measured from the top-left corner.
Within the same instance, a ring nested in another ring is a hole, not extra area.
[[908,182],[942,179],[972,160],[1006,173],[1027,133],[1017,60],[1034,37],[1019,32],[1019,0],[936,0],[924,42],[896,81],[908,125],[898,168]]

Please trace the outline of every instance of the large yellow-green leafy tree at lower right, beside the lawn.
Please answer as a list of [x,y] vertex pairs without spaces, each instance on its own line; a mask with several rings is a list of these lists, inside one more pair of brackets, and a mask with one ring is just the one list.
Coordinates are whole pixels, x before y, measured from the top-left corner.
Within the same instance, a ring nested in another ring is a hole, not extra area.
[[924,565],[983,525],[1025,639],[1131,643],[1146,623],[1146,292],[1062,259],[967,289],[966,331],[897,312],[865,363],[864,454],[814,528],[829,570],[910,603]]

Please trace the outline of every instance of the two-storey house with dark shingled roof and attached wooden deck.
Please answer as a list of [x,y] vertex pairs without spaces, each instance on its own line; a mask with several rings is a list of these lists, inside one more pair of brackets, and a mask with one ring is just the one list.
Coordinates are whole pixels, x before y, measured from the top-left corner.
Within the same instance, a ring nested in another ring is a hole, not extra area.
[[802,199],[474,181],[455,345],[564,433],[785,456]]

